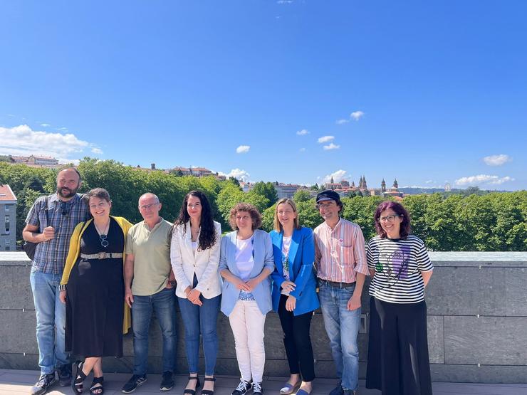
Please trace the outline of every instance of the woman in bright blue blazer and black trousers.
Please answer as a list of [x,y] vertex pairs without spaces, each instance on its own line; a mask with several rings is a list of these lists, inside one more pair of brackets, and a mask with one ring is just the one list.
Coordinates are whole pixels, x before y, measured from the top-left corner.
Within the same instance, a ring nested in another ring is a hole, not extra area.
[[291,199],[281,199],[276,204],[274,228],[273,310],[280,317],[291,372],[280,394],[308,395],[315,379],[309,328],[313,311],[319,307],[313,274],[313,231],[300,226],[296,204]]

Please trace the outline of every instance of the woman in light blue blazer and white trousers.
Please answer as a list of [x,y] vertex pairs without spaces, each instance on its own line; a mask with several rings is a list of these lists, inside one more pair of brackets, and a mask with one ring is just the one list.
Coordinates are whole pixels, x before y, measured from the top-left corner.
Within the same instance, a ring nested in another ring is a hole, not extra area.
[[221,311],[229,317],[241,374],[231,395],[244,395],[250,389],[254,395],[262,395],[264,325],[272,308],[269,275],[274,270],[273,246],[268,233],[258,229],[261,215],[253,205],[236,204],[229,223],[234,231],[221,239],[219,273],[224,278]]

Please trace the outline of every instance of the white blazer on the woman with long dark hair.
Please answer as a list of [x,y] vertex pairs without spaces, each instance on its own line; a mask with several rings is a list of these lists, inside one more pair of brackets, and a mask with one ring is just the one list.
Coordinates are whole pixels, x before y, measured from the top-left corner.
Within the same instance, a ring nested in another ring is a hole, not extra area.
[[[192,287],[194,273],[198,279],[196,289],[206,299],[221,294],[221,280],[218,272],[219,249],[221,246],[221,225],[214,221],[216,230],[216,243],[205,251],[192,250],[192,238],[190,232],[190,221],[187,222],[187,230],[184,226],[177,226],[172,233],[170,243],[170,262],[176,276],[176,295],[186,298],[184,290]],[[198,235],[199,240],[199,235]]]

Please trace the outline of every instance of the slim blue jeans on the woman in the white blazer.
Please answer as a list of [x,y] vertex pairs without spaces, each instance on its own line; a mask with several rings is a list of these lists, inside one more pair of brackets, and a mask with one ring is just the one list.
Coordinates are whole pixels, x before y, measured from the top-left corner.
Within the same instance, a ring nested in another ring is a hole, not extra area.
[[221,295],[206,299],[201,295],[199,300],[203,305],[198,306],[183,297],[179,300],[179,310],[185,327],[185,349],[189,362],[189,373],[198,372],[199,362],[199,333],[203,338],[203,353],[205,354],[205,374],[214,375],[216,356],[218,354],[218,335],[216,334],[216,320],[219,312]]

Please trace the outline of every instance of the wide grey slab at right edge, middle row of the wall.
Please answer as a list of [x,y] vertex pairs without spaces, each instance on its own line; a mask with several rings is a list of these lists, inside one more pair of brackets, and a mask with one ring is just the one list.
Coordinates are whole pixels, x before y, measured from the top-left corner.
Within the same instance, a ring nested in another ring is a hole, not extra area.
[[444,317],[447,364],[526,365],[527,317]]

